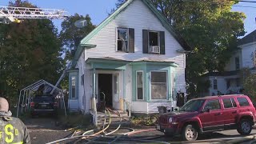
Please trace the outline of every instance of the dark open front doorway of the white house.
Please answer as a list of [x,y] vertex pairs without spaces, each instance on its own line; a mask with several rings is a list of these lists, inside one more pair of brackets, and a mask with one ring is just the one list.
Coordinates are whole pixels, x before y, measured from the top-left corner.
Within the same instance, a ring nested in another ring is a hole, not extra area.
[[99,100],[102,100],[103,98],[102,92],[106,95],[106,106],[112,108],[112,74],[98,74],[98,98],[100,98]]

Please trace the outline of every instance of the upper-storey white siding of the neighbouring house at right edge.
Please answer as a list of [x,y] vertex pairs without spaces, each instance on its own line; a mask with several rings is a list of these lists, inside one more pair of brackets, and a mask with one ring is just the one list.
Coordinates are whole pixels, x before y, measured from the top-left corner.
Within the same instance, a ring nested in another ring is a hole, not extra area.
[[241,46],[242,48],[242,67],[252,68],[254,67],[253,52],[256,46],[251,43]]

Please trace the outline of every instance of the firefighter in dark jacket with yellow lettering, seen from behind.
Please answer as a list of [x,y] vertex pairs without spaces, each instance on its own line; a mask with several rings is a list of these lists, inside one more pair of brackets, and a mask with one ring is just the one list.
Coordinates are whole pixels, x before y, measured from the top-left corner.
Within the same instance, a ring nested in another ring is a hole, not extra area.
[[9,103],[0,97],[0,143],[22,144],[31,143],[30,134],[24,123],[11,117]]

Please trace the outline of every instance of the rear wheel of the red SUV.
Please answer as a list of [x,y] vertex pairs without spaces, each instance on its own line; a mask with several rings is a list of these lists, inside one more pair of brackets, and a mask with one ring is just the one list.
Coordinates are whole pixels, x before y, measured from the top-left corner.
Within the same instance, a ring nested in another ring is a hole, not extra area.
[[253,129],[252,123],[249,119],[242,119],[238,123],[238,133],[242,135],[250,134],[251,130]]

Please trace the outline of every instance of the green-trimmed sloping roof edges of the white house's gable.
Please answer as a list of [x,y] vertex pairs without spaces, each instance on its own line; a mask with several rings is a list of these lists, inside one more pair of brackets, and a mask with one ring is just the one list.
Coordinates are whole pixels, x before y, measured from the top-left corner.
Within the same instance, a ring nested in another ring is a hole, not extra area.
[[[166,28],[174,36],[174,38],[178,41],[178,43],[182,46],[184,50],[192,50],[190,45],[186,43],[186,41],[179,35],[173,27],[170,25],[170,22],[167,21],[167,19],[153,6],[153,4],[149,0],[141,0],[150,10],[151,12],[158,18],[158,20],[162,23],[162,26]],[[105,27],[108,23],[110,23],[114,18],[118,16],[123,10],[126,9],[127,6],[130,5],[130,3],[134,2],[134,0],[127,0],[122,6],[120,6],[117,10],[114,11],[113,14],[111,14],[108,18],[106,18],[102,23],[100,23],[94,30],[90,32],[90,34],[86,35],[85,38],[82,38],[80,45],[78,46],[74,60],[78,60],[80,55],[82,54],[82,50],[86,48],[87,42],[89,42],[90,38],[93,38],[95,34],[98,34],[99,30],[102,30],[103,27]],[[74,62],[76,64],[76,62]],[[73,65],[74,66],[74,65]]]

